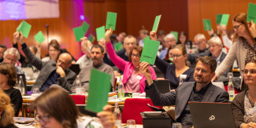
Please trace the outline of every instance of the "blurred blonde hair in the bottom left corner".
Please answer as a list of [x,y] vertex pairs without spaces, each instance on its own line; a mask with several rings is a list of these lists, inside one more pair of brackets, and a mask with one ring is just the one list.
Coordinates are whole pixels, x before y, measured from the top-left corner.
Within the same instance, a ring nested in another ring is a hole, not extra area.
[[10,124],[14,124],[13,116],[14,110],[12,104],[10,104],[9,96],[0,89],[0,109],[2,114],[0,115],[0,127],[5,127]]

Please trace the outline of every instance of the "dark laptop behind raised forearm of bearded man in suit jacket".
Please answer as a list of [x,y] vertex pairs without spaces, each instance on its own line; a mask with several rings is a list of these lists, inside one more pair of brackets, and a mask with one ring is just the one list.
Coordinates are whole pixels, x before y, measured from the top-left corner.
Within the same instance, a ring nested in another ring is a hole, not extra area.
[[[147,81],[145,81],[147,82]],[[160,93],[170,92],[170,82],[168,79],[165,80],[153,80]],[[146,97],[149,97],[146,93]]]

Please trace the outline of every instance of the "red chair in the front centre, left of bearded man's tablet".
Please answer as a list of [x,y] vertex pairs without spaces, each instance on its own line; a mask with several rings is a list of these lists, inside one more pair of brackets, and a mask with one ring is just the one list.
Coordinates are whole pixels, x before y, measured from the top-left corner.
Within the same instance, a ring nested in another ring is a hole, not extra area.
[[[136,124],[143,124],[143,118],[139,114],[140,112],[153,112],[147,104],[154,106],[150,99],[141,98],[128,98],[124,102],[124,109],[122,112],[122,123],[126,123],[128,119],[135,119]],[[162,108],[160,106],[155,106]]]

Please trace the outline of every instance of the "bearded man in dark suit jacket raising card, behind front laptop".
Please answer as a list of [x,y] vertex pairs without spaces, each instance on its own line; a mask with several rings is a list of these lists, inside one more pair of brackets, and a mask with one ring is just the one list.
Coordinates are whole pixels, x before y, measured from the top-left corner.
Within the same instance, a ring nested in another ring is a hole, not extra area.
[[151,101],[157,106],[176,105],[175,119],[176,122],[182,123],[183,127],[192,126],[190,109],[188,101],[198,102],[228,102],[228,92],[213,86],[211,79],[215,75],[217,66],[213,57],[199,57],[195,66],[195,82],[184,82],[178,86],[175,91],[169,93],[160,93],[152,81],[149,71],[149,64],[141,63],[140,72],[147,78],[145,87],[146,93],[150,96]]

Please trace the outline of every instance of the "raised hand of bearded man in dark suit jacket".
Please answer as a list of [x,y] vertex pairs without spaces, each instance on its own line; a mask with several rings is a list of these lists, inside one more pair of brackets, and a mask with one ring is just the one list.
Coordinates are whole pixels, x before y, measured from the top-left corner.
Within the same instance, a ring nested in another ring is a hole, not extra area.
[[150,86],[153,83],[153,80],[151,78],[151,72],[150,72],[150,64],[143,61],[139,64],[139,72],[143,74],[147,79],[147,84]]

